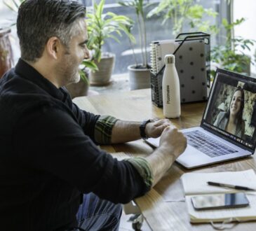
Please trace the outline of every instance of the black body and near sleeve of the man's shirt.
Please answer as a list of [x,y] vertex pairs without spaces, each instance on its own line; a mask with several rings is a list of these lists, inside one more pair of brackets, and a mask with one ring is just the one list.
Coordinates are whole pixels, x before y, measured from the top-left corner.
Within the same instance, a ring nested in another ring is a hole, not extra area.
[[97,148],[98,118],[22,59],[1,78],[0,230],[65,230],[81,193],[126,203],[149,190],[133,165]]

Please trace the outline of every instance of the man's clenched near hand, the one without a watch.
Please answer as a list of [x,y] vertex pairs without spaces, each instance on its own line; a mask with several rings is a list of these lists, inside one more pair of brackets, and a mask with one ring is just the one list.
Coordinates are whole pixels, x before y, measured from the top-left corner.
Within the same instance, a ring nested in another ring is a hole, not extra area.
[[176,159],[187,147],[187,139],[177,128],[169,126],[163,130],[159,146],[167,148]]

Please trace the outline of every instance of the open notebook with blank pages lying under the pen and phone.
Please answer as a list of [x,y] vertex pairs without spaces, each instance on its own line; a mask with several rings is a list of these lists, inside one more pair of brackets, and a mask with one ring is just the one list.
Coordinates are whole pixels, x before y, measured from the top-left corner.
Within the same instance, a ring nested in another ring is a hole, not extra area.
[[191,223],[256,220],[256,193],[254,191],[244,191],[248,197],[249,206],[243,208],[196,211],[191,203],[191,197],[196,195],[241,192],[233,188],[209,186],[208,181],[229,183],[256,190],[256,174],[252,169],[242,172],[187,173],[182,175],[181,181]]

